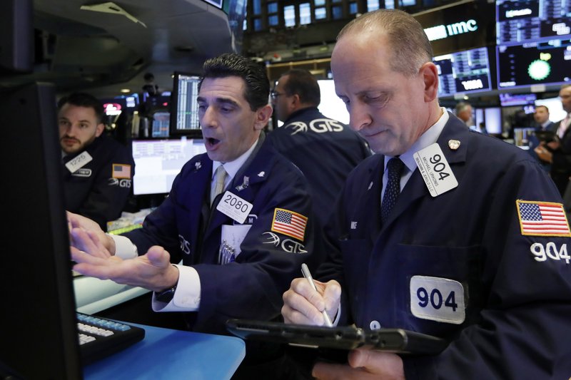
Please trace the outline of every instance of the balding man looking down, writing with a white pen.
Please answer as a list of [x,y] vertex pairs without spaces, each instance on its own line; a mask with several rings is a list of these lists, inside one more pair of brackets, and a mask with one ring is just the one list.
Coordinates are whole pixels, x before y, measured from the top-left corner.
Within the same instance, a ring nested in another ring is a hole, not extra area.
[[413,16],[379,10],[331,57],[350,126],[377,153],[350,174],[315,287],[294,279],[286,323],[400,328],[450,344],[433,356],[357,349],[318,379],[568,379],[571,231],[554,183],[519,148],[438,104]]

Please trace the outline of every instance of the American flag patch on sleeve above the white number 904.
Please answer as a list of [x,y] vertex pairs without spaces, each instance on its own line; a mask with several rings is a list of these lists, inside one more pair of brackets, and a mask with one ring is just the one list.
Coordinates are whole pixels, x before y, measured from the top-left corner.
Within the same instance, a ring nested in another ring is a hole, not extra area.
[[516,204],[522,235],[571,236],[561,203],[517,200]]

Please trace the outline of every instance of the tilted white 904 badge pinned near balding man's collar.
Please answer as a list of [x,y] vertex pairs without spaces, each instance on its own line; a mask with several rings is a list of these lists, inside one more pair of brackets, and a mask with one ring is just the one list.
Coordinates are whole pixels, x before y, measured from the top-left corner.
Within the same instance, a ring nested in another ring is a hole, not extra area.
[[414,154],[414,158],[420,175],[423,176],[426,187],[433,197],[458,186],[458,180],[437,143],[419,150]]

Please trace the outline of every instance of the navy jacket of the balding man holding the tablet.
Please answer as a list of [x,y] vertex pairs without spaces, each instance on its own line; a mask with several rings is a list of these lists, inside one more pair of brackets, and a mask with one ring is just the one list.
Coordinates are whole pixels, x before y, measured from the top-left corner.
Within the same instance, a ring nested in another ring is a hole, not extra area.
[[524,235],[530,217],[516,202],[560,203],[557,188],[528,153],[451,114],[438,144],[458,187],[432,197],[417,168],[383,226],[384,157],[355,168],[315,277],[342,284],[341,324],[451,341],[437,356],[405,356],[407,379],[567,379],[571,239]]

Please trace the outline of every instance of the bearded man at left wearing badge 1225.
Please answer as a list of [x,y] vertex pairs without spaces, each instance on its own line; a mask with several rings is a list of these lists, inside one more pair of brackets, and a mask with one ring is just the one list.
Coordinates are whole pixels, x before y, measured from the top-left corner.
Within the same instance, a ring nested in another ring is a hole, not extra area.
[[72,93],[59,100],[58,108],[66,210],[106,230],[131,193],[133,156],[103,133],[103,105],[94,96]]

